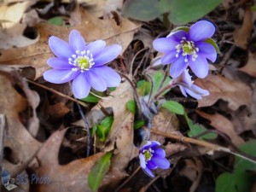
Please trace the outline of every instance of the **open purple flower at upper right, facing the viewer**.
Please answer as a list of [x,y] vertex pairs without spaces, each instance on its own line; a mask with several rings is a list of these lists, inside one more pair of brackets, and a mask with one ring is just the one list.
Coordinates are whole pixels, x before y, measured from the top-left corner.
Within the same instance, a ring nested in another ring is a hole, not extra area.
[[154,49],[165,53],[161,59],[163,65],[172,63],[170,75],[177,78],[189,66],[199,78],[208,74],[208,60],[214,62],[217,51],[206,40],[215,32],[213,24],[200,20],[190,26],[189,31],[177,30],[166,38],[157,38],[153,42]]

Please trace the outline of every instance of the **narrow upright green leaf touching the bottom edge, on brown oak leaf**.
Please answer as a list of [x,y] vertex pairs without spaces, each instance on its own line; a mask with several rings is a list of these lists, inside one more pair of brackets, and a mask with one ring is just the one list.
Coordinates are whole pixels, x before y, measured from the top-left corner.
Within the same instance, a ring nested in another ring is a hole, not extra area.
[[100,160],[91,168],[88,176],[88,186],[95,192],[102,183],[102,179],[109,170],[112,151],[104,154]]

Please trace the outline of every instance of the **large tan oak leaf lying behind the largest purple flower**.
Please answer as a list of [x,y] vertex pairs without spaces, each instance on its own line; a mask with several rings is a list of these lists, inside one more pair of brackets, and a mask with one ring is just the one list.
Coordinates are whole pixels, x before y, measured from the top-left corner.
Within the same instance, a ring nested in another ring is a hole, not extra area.
[[130,20],[124,19],[118,26],[115,20],[100,20],[82,11],[82,23],[77,27],[53,26],[48,23],[39,23],[39,41],[36,44],[24,48],[13,48],[0,51],[0,63],[9,65],[20,65],[20,67],[31,66],[36,69],[36,78],[49,69],[46,61],[54,56],[48,45],[49,36],[68,40],[71,30],[79,30],[87,43],[97,39],[103,39],[110,44],[120,44],[123,52],[133,39],[140,25],[134,24]]

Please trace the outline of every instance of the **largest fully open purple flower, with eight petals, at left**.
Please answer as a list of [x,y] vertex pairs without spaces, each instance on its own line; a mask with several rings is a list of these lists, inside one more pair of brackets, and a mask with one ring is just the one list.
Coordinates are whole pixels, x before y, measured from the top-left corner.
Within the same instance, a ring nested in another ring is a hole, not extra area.
[[90,44],[76,30],[69,34],[69,44],[51,36],[49,48],[57,57],[49,58],[47,63],[53,69],[44,73],[44,79],[63,84],[72,81],[73,95],[79,99],[89,95],[90,88],[104,91],[116,87],[121,78],[106,64],[113,61],[122,51],[119,44],[106,47],[106,42],[96,40]]

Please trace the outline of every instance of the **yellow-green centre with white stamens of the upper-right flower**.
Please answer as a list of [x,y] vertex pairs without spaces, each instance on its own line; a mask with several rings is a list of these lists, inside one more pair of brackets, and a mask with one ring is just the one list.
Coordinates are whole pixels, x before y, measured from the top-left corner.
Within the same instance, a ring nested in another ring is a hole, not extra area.
[[192,61],[195,61],[195,59],[198,57],[197,52],[199,49],[195,47],[195,44],[193,41],[187,41],[185,37],[182,38],[180,41],[180,44],[176,45],[177,54],[176,57],[182,52],[183,56],[185,57],[184,61],[188,62],[188,56],[192,56]]

